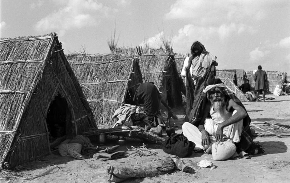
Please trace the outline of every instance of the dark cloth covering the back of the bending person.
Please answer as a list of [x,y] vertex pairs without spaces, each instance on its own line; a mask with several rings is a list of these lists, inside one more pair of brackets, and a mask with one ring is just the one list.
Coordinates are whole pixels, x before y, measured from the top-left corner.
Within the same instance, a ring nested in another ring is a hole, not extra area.
[[145,82],[139,85],[133,100],[137,101],[144,108],[149,119],[158,114],[161,95],[156,86],[151,82]]

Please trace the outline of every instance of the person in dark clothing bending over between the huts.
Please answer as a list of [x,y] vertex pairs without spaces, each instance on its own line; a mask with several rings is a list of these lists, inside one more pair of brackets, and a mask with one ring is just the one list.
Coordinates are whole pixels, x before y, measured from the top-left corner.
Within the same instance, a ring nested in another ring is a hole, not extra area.
[[167,108],[168,116],[172,114],[171,108],[161,98],[158,89],[151,82],[140,84],[135,92],[133,100],[143,107],[148,116],[148,120],[152,121],[155,125],[164,124],[160,114],[160,102]]

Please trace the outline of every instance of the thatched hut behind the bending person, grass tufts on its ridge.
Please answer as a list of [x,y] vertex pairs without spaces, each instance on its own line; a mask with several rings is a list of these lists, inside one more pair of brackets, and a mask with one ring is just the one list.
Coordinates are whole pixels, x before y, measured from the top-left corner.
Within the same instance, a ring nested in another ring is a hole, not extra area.
[[144,82],[154,82],[171,108],[182,105],[181,91],[185,86],[178,73],[172,49],[145,48],[138,55],[135,48],[116,48],[119,55],[138,56]]

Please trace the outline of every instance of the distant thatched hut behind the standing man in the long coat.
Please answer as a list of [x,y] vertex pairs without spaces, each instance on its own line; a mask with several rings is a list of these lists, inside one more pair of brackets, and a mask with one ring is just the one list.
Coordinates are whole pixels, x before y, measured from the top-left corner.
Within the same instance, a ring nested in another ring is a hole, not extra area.
[[[287,83],[287,73],[281,71],[266,71],[268,81],[266,82],[266,92],[273,93],[277,85]],[[254,74],[253,71],[247,71],[247,79],[253,88],[255,88]]]

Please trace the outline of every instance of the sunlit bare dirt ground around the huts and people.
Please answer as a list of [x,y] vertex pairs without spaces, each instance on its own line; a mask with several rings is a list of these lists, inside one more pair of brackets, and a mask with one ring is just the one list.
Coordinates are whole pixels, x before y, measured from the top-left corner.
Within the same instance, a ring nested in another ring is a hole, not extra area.
[[[243,102],[252,123],[262,125],[266,121],[280,119],[285,124],[290,125],[290,96],[266,95],[266,97],[274,97],[274,100],[266,100],[266,102]],[[180,112],[176,109],[176,113]],[[179,119],[173,121],[178,125],[177,133],[181,133],[181,125],[183,123],[183,114],[178,115]],[[167,137],[166,133],[163,135]],[[264,154],[252,156],[251,159],[237,159],[225,161],[213,161],[211,155],[204,153],[193,153],[190,157],[181,158],[186,165],[192,167],[195,173],[184,173],[176,170],[171,174],[159,175],[150,178],[137,178],[124,181],[127,183],[138,182],[290,182],[290,138],[279,137],[256,137],[255,142],[259,142],[265,149]],[[116,141],[111,140],[108,146],[115,145]],[[97,144],[95,144],[97,145]],[[125,146],[121,146],[119,150],[127,151],[126,147],[141,146],[139,140],[127,139]],[[138,157],[131,155],[118,160],[110,160],[103,162],[98,159],[87,158],[77,160],[70,157],[61,157],[51,154],[44,159],[27,163],[22,170],[11,176],[10,180],[0,180],[2,182],[108,182],[107,181],[107,165],[140,165],[144,162],[150,162],[154,159],[164,157],[174,157],[166,154],[162,150],[161,145],[149,144],[149,148],[158,152],[157,156]],[[200,168],[197,162],[207,159],[211,160],[215,165],[215,169]],[[53,169],[47,175],[26,180],[25,178],[40,175],[47,170]]]

